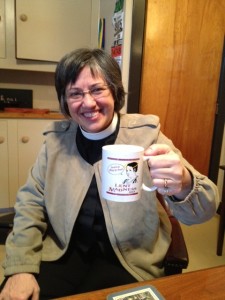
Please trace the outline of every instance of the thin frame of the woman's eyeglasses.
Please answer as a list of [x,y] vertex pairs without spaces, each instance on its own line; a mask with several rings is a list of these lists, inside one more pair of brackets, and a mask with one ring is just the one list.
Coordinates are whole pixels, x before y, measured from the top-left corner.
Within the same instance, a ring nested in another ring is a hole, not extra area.
[[[103,87],[106,87],[106,88],[103,88]],[[104,96],[103,95],[93,95],[93,92],[95,90],[97,90],[97,89],[102,89],[101,92],[104,92],[104,91],[108,90],[109,93],[107,95],[104,95]],[[76,88],[74,90],[76,90]],[[86,91],[77,89],[77,93],[80,94],[80,95],[77,95],[77,96],[78,97],[80,96],[81,99],[74,99],[73,97],[71,97],[71,95],[68,94],[68,92],[69,91],[66,92],[66,101],[70,102],[70,103],[79,103],[79,102],[83,101],[85,95],[87,95],[87,94],[89,94],[95,100],[98,100],[98,99],[101,99],[101,98],[104,98],[104,97],[108,97],[108,95],[110,94],[111,90],[110,90],[108,84],[103,84],[101,86],[100,85],[96,85],[96,86],[93,86],[92,88],[90,88],[89,90],[86,90]],[[74,93],[75,93],[75,91],[74,91]]]

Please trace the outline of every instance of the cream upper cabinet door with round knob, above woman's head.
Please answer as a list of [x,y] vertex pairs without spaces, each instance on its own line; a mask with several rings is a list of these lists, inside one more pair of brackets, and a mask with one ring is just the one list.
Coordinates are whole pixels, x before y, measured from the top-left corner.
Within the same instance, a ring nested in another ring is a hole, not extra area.
[[16,0],[17,58],[57,62],[98,43],[99,0]]

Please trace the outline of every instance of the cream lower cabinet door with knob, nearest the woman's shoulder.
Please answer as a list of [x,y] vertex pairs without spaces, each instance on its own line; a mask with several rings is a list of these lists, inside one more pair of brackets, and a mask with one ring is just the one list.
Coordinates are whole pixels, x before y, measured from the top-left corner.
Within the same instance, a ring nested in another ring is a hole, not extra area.
[[44,142],[43,132],[50,120],[18,120],[18,176],[22,186],[34,164],[41,145]]

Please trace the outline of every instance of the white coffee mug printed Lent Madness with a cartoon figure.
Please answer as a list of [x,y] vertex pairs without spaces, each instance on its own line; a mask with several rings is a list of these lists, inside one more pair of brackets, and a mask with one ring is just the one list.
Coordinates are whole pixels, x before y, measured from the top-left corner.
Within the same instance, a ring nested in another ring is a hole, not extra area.
[[102,147],[102,197],[117,202],[139,200],[141,190],[157,188],[142,183],[144,148],[136,145],[107,145]]

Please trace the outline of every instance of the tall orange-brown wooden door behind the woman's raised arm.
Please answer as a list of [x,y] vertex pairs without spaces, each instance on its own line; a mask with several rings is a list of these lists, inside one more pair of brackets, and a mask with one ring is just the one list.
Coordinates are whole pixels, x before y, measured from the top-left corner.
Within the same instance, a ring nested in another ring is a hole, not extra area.
[[222,2],[149,0],[143,41],[140,113],[158,115],[164,134],[206,175],[224,43]]

